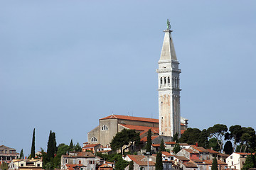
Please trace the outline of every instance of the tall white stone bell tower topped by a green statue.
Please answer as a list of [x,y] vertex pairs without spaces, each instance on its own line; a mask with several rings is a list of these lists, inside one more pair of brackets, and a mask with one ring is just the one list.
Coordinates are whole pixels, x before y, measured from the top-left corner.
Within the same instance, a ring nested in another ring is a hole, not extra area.
[[181,109],[178,60],[171,38],[171,26],[167,20],[167,29],[164,30],[164,43],[159,60],[159,135],[174,137],[181,136]]

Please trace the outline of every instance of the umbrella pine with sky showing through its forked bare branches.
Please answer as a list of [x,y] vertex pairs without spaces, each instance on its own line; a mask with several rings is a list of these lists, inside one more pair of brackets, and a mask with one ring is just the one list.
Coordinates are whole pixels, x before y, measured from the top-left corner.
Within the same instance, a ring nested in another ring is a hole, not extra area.
[[220,152],[222,151],[223,146],[223,137],[225,135],[225,132],[228,131],[228,128],[226,125],[222,124],[216,124],[213,125],[213,127],[208,128],[208,132],[210,134],[210,137],[215,137],[218,145],[220,146]]

